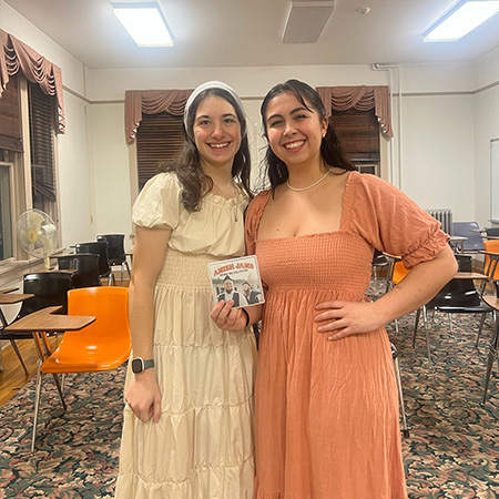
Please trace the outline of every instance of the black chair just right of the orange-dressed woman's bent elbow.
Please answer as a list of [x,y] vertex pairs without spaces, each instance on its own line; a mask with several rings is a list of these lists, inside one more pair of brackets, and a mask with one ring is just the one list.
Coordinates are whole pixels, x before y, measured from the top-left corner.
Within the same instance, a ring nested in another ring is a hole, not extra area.
[[[456,255],[459,272],[470,272],[471,256]],[[416,312],[414,327],[413,346],[416,344],[419,317],[422,312],[426,343],[428,349],[428,364],[431,364],[431,353],[429,345],[429,328],[427,310],[441,312],[449,315],[450,333],[452,333],[452,314],[480,314],[480,326],[478,336],[483,327],[486,314],[490,314],[491,308],[483,302],[480,292],[476,288],[472,278],[452,278],[431,298],[426,305]]]

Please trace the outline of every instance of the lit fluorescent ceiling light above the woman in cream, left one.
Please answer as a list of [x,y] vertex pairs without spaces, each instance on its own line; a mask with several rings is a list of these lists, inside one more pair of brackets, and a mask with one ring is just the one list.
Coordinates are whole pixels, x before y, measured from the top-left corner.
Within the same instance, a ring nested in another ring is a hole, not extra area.
[[157,3],[113,3],[113,11],[139,47],[173,47]]

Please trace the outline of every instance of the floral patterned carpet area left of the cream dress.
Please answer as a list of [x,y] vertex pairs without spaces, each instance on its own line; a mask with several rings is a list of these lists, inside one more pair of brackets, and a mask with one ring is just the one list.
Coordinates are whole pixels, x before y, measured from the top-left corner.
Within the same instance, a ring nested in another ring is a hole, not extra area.
[[44,376],[37,448],[30,452],[34,380],[0,410],[0,498],[112,498],[120,450],[124,366],[68,375],[62,404]]

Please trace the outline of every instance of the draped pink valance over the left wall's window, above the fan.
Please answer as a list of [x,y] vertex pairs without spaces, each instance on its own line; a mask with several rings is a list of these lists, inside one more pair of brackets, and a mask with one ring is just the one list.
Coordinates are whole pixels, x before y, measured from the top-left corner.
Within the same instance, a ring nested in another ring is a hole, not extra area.
[[58,102],[58,133],[64,133],[64,102],[62,98],[61,69],[40,55],[31,47],[0,29],[0,95],[9,78],[21,71],[31,82],[40,85],[47,95],[54,95]]

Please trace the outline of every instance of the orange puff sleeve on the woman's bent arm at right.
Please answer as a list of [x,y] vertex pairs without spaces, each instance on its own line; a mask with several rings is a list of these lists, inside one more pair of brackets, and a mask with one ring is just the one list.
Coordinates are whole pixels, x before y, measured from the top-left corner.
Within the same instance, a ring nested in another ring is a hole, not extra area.
[[432,259],[449,236],[440,222],[390,183],[374,175],[354,173],[346,204],[348,224],[375,248],[400,256],[404,265]]

